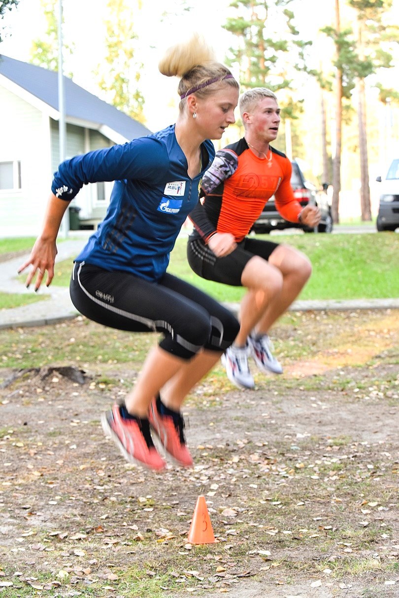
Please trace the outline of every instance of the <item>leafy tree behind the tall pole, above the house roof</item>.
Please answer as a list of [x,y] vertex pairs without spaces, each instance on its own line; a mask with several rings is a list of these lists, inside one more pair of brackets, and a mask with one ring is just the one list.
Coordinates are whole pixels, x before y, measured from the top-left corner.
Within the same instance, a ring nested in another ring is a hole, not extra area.
[[[40,0],[47,23],[44,36],[32,41],[31,62],[50,71],[58,71],[58,18],[59,0]],[[63,58],[74,52],[74,44],[63,40]],[[68,73],[72,77],[72,73]]]

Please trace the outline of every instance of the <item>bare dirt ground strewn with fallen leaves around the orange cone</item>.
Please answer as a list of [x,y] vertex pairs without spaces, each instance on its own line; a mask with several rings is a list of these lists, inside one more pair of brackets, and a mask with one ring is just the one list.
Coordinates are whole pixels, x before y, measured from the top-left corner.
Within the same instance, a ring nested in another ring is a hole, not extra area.
[[[322,348],[253,391],[216,368],[184,409],[195,466],[163,474],[99,423],[128,365],[3,368],[0,596],[399,596],[398,316],[322,316]],[[300,322],[277,332],[309,343]],[[199,495],[215,544],[187,543]]]

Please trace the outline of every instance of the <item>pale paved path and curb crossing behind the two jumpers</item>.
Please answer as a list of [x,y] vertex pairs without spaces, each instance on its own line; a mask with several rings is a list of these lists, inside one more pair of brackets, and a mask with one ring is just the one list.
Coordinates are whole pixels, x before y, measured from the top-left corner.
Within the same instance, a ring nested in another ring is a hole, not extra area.
[[[72,259],[78,254],[86,243],[87,234],[79,239],[65,240],[58,243],[57,261]],[[29,253],[12,260],[0,263],[0,291],[8,293],[32,293],[31,288],[27,289],[25,282],[26,274],[17,275],[17,270],[29,257]],[[69,289],[50,285],[39,290],[41,295],[50,297],[37,303],[29,304],[14,309],[0,311],[0,329],[11,327],[41,326],[55,324],[67,319],[76,318],[77,310],[69,298]],[[226,306],[234,312],[238,312],[237,303],[227,303]],[[293,311],[302,310],[354,310],[354,309],[399,309],[398,299],[356,299],[351,301],[294,301],[291,306]]]

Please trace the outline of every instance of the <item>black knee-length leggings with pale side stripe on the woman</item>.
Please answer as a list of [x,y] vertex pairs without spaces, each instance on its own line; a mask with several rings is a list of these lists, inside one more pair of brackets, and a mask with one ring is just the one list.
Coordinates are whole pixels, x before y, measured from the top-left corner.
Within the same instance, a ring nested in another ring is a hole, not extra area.
[[239,331],[229,310],[172,274],[149,282],[76,262],[69,291],[74,306],[90,320],[119,330],[162,332],[160,347],[182,359],[202,348],[224,352]]

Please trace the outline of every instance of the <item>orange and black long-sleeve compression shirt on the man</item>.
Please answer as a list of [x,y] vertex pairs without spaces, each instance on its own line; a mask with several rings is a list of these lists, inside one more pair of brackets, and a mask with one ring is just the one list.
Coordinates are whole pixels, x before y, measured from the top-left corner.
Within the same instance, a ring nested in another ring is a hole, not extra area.
[[270,149],[270,160],[258,158],[242,138],[217,152],[202,179],[202,205],[190,213],[205,242],[216,232],[242,241],[273,194],[283,218],[298,222],[302,208],[291,187],[291,162]]

